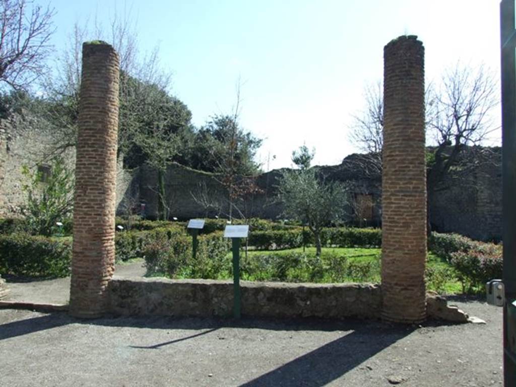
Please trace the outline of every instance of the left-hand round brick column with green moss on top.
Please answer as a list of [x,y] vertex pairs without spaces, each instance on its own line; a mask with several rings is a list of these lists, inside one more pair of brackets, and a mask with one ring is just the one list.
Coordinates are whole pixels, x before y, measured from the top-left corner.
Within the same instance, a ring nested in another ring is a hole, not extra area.
[[119,57],[103,42],[83,44],[70,314],[98,317],[115,263]]

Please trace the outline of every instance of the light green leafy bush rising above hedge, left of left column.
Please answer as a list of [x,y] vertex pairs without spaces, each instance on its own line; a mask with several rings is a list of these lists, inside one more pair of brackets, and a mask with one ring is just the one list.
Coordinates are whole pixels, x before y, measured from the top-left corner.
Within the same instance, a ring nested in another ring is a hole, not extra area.
[[23,167],[28,183],[22,187],[27,196],[22,206],[27,230],[33,235],[52,235],[56,222],[64,221],[73,208],[73,172],[66,168],[62,159],[55,160],[50,173],[30,171]]

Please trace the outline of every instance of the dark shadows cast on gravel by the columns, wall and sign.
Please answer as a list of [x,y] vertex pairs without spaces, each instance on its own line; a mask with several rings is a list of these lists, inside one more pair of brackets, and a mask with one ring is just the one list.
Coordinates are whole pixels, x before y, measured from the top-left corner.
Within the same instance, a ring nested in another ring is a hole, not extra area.
[[[0,340],[22,336],[33,332],[51,330],[66,325],[95,325],[106,327],[131,327],[147,329],[192,330],[174,340],[148,343],[142,346],[128,346],[138,349],[158,350],[165,346],[189,340],[193,337],[209,335],[221,328],[245,328],[276,331],[340,331],[342,336],[322,345],[311,352],[283,364],[244,386],[266,385],[308,385],[322,386],[340,378],[378,352],[412,333],[416,327],[391,325],[379,321],[363,320],[320,320],[298,319],[281,321],[275,319],[241,320],[217,318],[177,318],[177,317],[115,317],[84,320],[70,317],[66,313],[38,315],[28,319],[0,325]],[[429,325],[434,326],[433,322]]]

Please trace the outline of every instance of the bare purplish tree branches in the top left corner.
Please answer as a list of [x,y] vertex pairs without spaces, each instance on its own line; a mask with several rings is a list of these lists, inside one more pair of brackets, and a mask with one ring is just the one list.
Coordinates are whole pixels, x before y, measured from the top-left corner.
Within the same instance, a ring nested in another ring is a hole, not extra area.
[[53,8],[26,0],[0,0],[0,82],[28,89],[45,71]]

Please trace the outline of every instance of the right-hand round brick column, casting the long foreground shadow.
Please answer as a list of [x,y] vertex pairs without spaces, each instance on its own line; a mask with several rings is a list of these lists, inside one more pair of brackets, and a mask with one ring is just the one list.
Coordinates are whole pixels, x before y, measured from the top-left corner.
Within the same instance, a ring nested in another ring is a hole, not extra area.
[[383,50],[382,317],[409,323],[426,317],[424,53],[415,36]]

